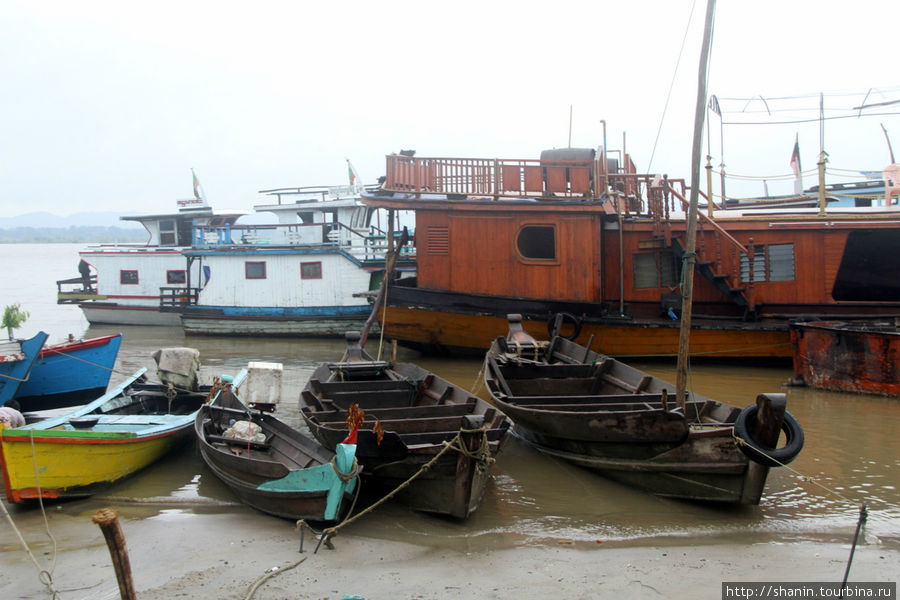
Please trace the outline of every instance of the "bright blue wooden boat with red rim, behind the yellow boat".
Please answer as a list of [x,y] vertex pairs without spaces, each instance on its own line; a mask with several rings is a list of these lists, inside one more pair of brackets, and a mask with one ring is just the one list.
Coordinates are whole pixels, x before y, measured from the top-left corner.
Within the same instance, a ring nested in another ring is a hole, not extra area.
[[70,339],[45,346],[16,394],[22,410],[84,404],[102,396],[116,364],[122,334]]

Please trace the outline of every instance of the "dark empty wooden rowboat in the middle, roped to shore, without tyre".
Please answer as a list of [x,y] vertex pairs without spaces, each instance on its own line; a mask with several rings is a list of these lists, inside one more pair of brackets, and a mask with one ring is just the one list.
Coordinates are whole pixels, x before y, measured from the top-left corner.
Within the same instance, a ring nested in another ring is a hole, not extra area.
[[374,360],[359,340],[359,333],[347,333],[341,360],[319,365],[303,389],[301,414],[310,431],[333,448],[347,433],[350,405],[362,409],[357,457],[364,467],[363,488],[381,493],[419,474],[446,443],[455,444],[395,498],[415,510],[469,516],[481,502],[509,421],[417,365]]

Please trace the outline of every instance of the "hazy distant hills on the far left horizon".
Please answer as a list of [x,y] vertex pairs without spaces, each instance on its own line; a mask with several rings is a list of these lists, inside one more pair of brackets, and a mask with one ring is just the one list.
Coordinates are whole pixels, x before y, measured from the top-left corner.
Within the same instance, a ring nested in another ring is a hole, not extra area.
[[0,243],[144,242],[140,223],[122,221],[117,212],[81,212],[60,217],[33,212],[0,217]]

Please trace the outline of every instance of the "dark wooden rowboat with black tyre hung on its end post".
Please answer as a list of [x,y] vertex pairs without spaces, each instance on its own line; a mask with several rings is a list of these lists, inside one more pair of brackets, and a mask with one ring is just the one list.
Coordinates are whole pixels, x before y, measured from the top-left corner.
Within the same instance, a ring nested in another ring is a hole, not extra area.
[[[535,340],[519,315],[491,344],[484,380],[514,433],[541,452],[659,496],[758,504],[769,466],[803,446],[784,394],[743,410],[697,394],[678,402],[675,386],[618,360],[559,336]],[[787,442],[776,449],[780,430]]]

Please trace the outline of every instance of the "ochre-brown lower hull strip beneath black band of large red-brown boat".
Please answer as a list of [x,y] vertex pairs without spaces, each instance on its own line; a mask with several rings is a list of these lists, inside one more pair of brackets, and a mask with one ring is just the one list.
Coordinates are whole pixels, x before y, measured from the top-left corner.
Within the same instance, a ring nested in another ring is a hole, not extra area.
[[[498,306],[498,310],[505,312],[502,306]],[[429,353],[480,354],[491,341],[505,335],[507,329],[503,316],[426,310],[393,303],[379,317],[383,317],[385,337]],[[786,324],[766,328],[735,325],[694,327],[691,354],[715,358],[790,359],[790,334]],[[523,326],[537,338],[547,336],[545,319],[526,319]],[[612,356],[677,356],[678,335],[677,321],[592,322],[585,319],[575,341],[586,345],[593,336],[593,348]]]

